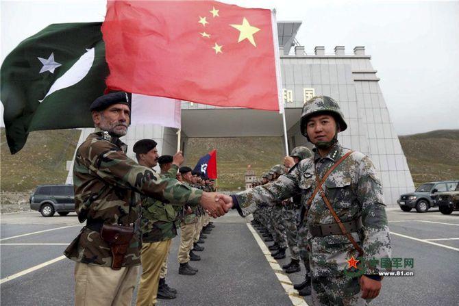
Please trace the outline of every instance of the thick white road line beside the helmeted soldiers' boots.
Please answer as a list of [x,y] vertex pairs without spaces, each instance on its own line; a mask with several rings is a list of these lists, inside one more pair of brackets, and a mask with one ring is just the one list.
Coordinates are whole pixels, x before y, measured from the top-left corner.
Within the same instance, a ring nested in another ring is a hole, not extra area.
[[280,281],[280,284],[287,293],[288,298],[290,298],[290,301],[292,301],[292,304],[294,306],[308,306],[308,303],[304,301],[304,298],[299,296],[297,290],[293,289],[292,281],[290,281],[288,276],[284,274],[284,271],[282,270],[281,266],[277,263],[277,260],[271,257],[271,252],[266,247],[266,244],[264,244],[263,240],[260,238],[260,235],[258,235],[256,230],[253,229],[253,227],[249,223],[246,223],[246,225],[249,228],[249,231],[251,231],[253,238],[255,238],[256,242],[258,243],[258,246],[260,246],[260,248],[262,249],[264,257],[266,257],[266,260],[269,262],[269,265],[274,270],[275,276]]

